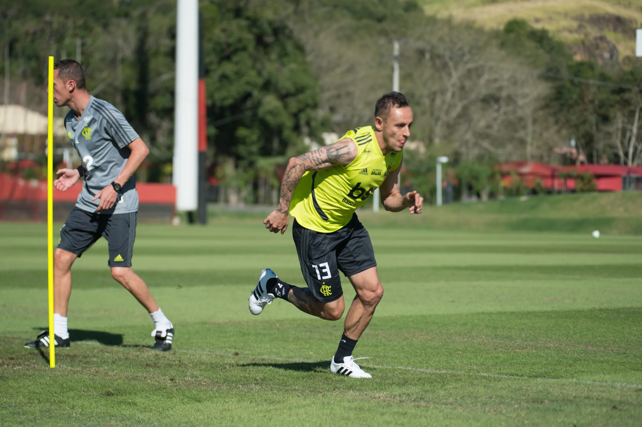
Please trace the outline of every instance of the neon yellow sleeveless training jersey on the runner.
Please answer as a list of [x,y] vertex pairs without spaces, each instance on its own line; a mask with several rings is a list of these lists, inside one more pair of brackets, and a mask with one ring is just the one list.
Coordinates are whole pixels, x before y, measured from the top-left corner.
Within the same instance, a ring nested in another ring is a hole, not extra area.
[[339,230],[401,164],[401,153],[381,153],[372,126],[348,131],[341,139],[345,138],[357,146],[352,163],[308,171],[294,190],[290,213],[305,228],[320,233]]

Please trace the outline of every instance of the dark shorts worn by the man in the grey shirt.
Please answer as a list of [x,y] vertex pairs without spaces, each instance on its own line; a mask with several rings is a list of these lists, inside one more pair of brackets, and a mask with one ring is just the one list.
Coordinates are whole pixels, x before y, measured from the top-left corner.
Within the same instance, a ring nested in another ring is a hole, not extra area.
[[103,236],[109,247],[110,267],[131,267],[136,212],[96,213],[74,207],[60,229],[58,247],[81,256]]

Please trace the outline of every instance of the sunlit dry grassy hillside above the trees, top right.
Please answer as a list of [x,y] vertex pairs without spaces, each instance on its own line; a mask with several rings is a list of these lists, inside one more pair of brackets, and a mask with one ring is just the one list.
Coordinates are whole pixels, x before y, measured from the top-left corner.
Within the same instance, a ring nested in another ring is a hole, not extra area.
[[[501,29],[510,19],[546,28],[566,43],[577,60],[586,60],[596,36],[609,38],[619,57],[634,55],[635,28],[642,25],[642,2],[629,0],[420,0],[424,10],[455,21]],[[597,41],[600,44],[600,40]],[[604,47],[601,47],[602,49]]]

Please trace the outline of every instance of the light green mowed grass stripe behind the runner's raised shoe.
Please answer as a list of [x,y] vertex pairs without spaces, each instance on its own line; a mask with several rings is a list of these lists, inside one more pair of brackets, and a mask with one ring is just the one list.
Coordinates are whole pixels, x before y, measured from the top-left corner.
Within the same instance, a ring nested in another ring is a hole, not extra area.
[[[80,283],[78,281],[77,283]],[[294,282],[294,284],[300,284]],[[80,285],[78,285],[80,288]],[[246,322],[261,324],[282,319],[319,322],[293,310],[285,301],[274,301],[260,316],[248,312],[247,298],[252,285],[152,287],[164,312],[177,325],[193,322]],[[33,333],[46,325],[46,287],[0,289],[0,311],[7,332]],[[354,290],[346,288],[345,300]],[[584,281],[526,281],[521,283],[395,282],[385,287],[377,317],[428,314],[492,312],[555,312],[642,306],[642,289],[636,280],[609,280],[604,287]],[[408,296],[412,296],[409,299]],[[100,330],[107,317],[110,324],[132,326],[149,319],[138,303],[117,283],[110,287],[74,289],[69,316],[76,326]],[[377,318],[376,317],[376,318]],[[79,320],[76,320],[79,319]],[[329,322],[333,328],[342,322]],[[74,327],[76,327],[74,326]],[[71,327],[71,326],[70,326]],[[425,329],[425,328],[423,328]],[[144,335],[146,336],[146,335]]]

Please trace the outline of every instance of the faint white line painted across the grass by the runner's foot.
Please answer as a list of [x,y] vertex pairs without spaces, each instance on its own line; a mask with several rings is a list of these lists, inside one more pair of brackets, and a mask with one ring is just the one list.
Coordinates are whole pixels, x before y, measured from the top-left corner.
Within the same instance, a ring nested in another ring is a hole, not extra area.
[[[305,359],[293,359],[286,357],[277,357],[277,356],[255,356],[255,355],[234,355],[232,353],[223,353],[219,351],[197,351],[197,350],[175,350],[180,353],[196,353],[202,355],[216,355],[216,356],[230,356],[230,357],[246,357],[254,359],[268,359],[268,360],[281,360],[283,362],[295,362],[295,363],[315,363],[315,360],[305,360]],[[329,363],[329,362],[328,362]],[[385,366],[385,365],[367,365],[361,364],[363,367],[373,367],[376,369],[398,369],[403,371],[415,371],[422,372],[426,374],[447,374],[447,375],[470,375],[470,376],[485,376],[490,378],[508,378],[511,380],[535,380],[535,381],[570,381],[574,383],[586,384],[586,385],[609,385],[612,387],[634,387],[642,388],[642,384],[629,384],[629,383],[611,383],[607,381],[590,381],[590,380],[580,380],[579,378],[546,378],[538,376],[524,376],[524,375],[507,375],[507,374],[490,374],[483,372],[465,372],[465,371],[449,371],[447,369],[429,369],[429,368],[416,368],[409,366]]]

